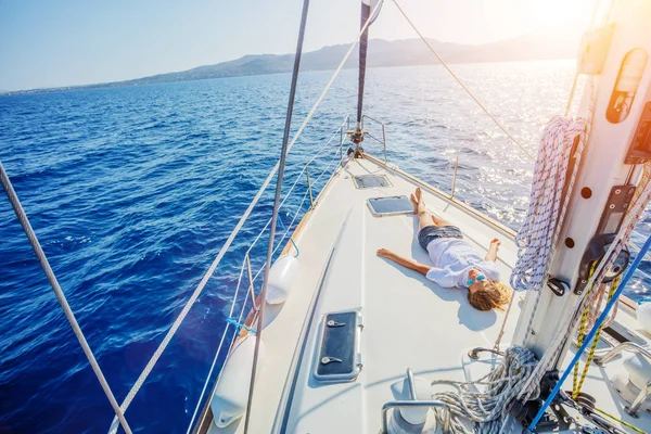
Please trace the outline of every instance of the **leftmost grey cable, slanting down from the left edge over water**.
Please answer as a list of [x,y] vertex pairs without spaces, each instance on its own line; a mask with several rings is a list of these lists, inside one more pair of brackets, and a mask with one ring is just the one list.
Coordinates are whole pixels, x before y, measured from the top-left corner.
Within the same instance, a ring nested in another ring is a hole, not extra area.
[[115,396],[113,395],[113,392],[111,391],[111,386],[108,386],[108,382],[104,378],[104,374],[102,373],[102,369],[100,368],[98,360],[95,359],[94,355],[92,354],[92,349],[90,349],[90,345],[88,345],[88,341],[86,341],[86,336],[84,335],[84,332],[81,331],[81,328],[79,327],[79,323],[77,322],[77,319],[75,318],[75,314],[73,312],[73,309],[71,308],[71,305],[68,304],[68,302],[65,297],[65,294],[63,293],[63,290],[61,289],[61,285],[59,285],[56,276],[54,276],[54,271],[52,271],[52,267],[50,267],[50,263],[48,261],[48,258],[46,257],[46,253],[41,248],[40,243],[38,242],[38,239],[36,238],[36,233],[34,232],[34,229],[31,228],[31,225],[29,224],[29,219],[27,218],[27,215],[25,214],[25,209],[23,209],[23,205],[21,205],[18,195],[16,194],[15,190],[13,189],[13,186],[11,184],[9,176],[7,175],[7,171],[4,170],[4,167],[2,166],[2,162],[0,162],[0,182],[2,183],[4,192],[7,193],[7,197],[9,199],[9,202],[11,202],[11,206],[14,208],[14,212],[16,213],[16,217],[18,218],[18,221],[21,221],[21,226],[23,227],[23,230],[25,231],[25,234],[27,235],[27,239],[29,240],[29,244],[31,244],[31,248],[34,248],[34,253],[36,254],[36,257],[38,258],[38,260],[43,269],[43,272],[46,273],[46,277],[48,278],[48,281],[52,285],[54,295],[56,295],[56,299],[61,304],[61,307],[63,308],[63,312],[65,314],[65,317],[67,318],[68,322],[71,323],[71,328],[75,332],[75,336],[77,336],[77,340],[79,340],[79,345],[81,345],[81,349],[84,349],[84,354],[86,354],[86,357],[88,358],[88,361],[90,362],[90,366],[92,367],[92,370],[94,371],[94,373],[98,378],[98,381],[100,382],[100,384],[102,385],[102,388],[104,390],[104,393],[106,394],[106,398],[108,398],[108,401],[111,403],[111,407],[113,407],[115,414],[119,419],[119,424],[123,426],[123,429],[125,430],[125,432],[127,434],[131,434],[131,429],[129,427],[129,424],[127,423],[127,420],[125,419],[125,414],[124,414],[123,410],[120,410],[120,408],[117,404],[117,400],[115,399]]

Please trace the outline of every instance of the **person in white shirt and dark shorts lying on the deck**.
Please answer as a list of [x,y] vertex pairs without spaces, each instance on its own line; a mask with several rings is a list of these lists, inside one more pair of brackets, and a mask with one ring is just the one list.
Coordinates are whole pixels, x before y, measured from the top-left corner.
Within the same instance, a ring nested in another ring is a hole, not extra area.
[[425,209],[421,189],[411,195],[413,214],[419,218],[418,242],[427,251],[433,267],[380,248],[378,256],[424,275],[443,288],[468,288],[468,301],[480,310],[500,309],[509,303],[511,290],[499,281],[495,261],[500,241],[494,239],[486,257],[482,257],[463,241],[458,227]]

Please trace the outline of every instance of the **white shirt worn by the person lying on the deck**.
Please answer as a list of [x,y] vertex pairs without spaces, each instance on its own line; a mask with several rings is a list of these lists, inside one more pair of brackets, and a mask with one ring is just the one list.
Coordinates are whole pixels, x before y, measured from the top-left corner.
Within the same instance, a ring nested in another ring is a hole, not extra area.
[[470,244],[458,238],[439,238],[427,245],[433,267],[427,279],[443,288],[465,288],[468,273],[475,268],[489,280],[499,280],[494,261],[484,260]]

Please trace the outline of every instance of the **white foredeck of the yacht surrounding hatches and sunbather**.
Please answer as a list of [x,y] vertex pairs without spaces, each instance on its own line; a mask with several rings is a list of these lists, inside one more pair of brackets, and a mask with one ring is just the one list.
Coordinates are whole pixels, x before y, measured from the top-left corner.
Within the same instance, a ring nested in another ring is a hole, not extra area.
[[[386,174],[393,187],[355,188],[352,176],[369,173]],[[366,205],[368,197],[409,195],[414,188],[413,180],[365,158],[353,159],[323,190],[295,235],[301,273],[291,296],[283,306],[270,306],[266,312],[266,355],[254,392],[251,433],[378,433],[382,405],[394,399],[391,385],[404,378],[407,367],[430,381],[467,380],[468,350],[493,346],[503,312],[475,310],[465,290],[438,288],[375,255],[378,248],[387,247],[429,264],[414,237],[414,216],[373,217]],[[477,252],[483,254],[490,239],[501,239],[498,266],[502,280],[508,281],[515,261],[511,232],[434,190],[423,192],[427,208],[459,226]],[[315,295],[318,302],[310,317]],[[521,295],[515,297],[506,343],[520,314]],[[363,369],[355,382],[319,384],[311,372],[321,317],[350,309],[360,309],[363,316]],[[314,318],[311,324],[309,318]],[[302,352],[304,324],[310,326]],[[592,368],[584,390],[595,392],[601,408],[622,417],[621,404],[602,405],[601,396],[610,393],[598,391],[608,388],[600,375],[600,369]],[[625,419],[640,427],[651,425],[648,414]],[[226,430],[210,424],[209,432],[240,433],[243,425],[243,419]]]

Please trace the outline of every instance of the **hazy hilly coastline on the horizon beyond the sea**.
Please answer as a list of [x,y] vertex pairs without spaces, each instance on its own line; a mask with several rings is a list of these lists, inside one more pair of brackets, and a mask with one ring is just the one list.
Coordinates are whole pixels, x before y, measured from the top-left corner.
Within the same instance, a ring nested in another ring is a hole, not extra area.
[[[570,59],[576,55],[578,37],[566,33],[547,31],[481,46],[441,42],[429,39],[432,47],[448,63],[511,62],[548,59]],[[302,71],[334,69],[349,48],[348,44],[323,47],[303,54]],[[346,68],[357,67],[357,50],[345,64]],[[294,54],[248,54],[234,61],[215,65],[199,66],[178,73],[158,74],[126,81],[104,82],[88,86],[74,86],[55,89],[35,89],[7,92],[31,93],[62,90],[113,88],[142,86],[158,82],[189,81],[207,78],[238,77],[250,75],[289,73],[292,71]],[[420,39],[369,41],[368,66],[410,66],[437,64],[427,47]]]

